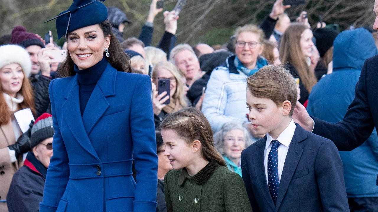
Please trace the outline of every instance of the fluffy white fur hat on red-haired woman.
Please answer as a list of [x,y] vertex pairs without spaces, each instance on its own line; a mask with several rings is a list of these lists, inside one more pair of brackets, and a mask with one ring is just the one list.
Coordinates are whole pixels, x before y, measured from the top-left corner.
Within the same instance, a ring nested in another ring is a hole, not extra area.
[[17,45],[0,46],[0,69],[11,63],[18,63],[25,77],[29,77],[31,71],[29,53],[24,48]]

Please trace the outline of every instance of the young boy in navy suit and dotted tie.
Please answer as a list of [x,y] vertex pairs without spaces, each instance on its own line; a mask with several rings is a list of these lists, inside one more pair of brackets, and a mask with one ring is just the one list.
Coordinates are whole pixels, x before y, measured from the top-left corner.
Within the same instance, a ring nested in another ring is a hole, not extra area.
[[294,78],[265,66],[247,78],[249,121],[265,137],[242,152],[242,176],[253,212],[349,212],[335,144],[291,119]]

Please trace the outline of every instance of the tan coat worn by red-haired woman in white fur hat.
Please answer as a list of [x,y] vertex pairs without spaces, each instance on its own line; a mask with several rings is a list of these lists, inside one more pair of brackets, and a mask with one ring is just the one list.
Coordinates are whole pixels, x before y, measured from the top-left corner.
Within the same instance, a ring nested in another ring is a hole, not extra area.
[[[14,173],[22,166],[22,156],[11,163],[8,146],[15,143],[12,122],[0,126],[0,200],[6,200]],[[8,212],[6,202],[0,202],[0,211]]]

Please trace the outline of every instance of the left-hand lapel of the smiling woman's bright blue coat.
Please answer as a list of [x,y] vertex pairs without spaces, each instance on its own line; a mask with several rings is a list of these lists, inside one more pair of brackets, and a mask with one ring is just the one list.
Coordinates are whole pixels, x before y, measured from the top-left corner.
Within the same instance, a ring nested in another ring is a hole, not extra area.
[[71,79],[70,84],[68,84],[67,92],[64,98],[66,99],[66,101],[62,106],[62,114],[68,128],[72,132],[77,142],[87,152],[93,155],[93,157],[98,159],[95,148],[93,148],[93,145],[84,129],[80,112],[79,83],[77,81],[77,75],[75,75]]

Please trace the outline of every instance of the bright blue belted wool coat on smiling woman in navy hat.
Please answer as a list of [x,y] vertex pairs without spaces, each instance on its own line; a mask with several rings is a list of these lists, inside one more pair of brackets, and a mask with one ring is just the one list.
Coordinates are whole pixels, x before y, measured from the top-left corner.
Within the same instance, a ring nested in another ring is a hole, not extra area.
[[54,155],[40,212],[154,212],[158,158],[150,78],[108,64],[83,116],[77,75],[51,81],[49,91]]

